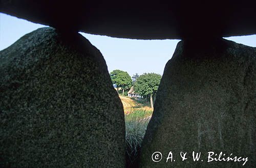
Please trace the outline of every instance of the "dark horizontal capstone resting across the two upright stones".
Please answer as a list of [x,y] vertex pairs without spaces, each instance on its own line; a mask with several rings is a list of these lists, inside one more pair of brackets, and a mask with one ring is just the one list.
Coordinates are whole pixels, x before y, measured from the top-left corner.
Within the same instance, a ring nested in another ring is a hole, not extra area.
[[137,39],[256,34],[253,1],[2,0],[0,11],[58,29]]

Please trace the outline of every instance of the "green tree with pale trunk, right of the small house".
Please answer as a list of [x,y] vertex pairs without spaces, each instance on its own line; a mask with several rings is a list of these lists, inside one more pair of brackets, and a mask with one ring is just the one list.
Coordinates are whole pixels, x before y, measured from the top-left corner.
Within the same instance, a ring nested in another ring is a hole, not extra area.
[[157,92],[161,78],[162,76],[159,74],[144,73],[143,75],[140,75],[134,83],[134,89],[137,93],[150,97],[150,104],[152,109],[154,109],[153,96]]

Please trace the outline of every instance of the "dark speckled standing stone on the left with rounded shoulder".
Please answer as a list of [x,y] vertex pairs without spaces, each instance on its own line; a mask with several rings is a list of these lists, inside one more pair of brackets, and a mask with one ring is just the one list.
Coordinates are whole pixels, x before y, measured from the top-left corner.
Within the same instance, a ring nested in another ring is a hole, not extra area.
[[42,28],[0,52],[0,165],[124,167],[125,126],[87,39]]

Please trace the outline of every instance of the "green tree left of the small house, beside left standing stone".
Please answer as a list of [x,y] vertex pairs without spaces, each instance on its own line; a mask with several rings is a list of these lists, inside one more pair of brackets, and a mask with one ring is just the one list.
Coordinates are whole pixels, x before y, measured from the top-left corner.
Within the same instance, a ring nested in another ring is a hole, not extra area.
[[132,78],[126,71],[122,71],[119,69],[113,70],[110,73],[110,78],[112,83],[116,85],[117,91],[118,88],[121,87],[124,93],[125,89],[129,89],[132,87]]

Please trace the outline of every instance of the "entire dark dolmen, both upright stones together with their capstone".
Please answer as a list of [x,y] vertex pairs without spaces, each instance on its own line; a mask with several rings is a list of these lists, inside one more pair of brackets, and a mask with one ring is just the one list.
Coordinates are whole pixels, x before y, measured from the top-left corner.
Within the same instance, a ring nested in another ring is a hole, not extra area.
[[3,0],[0,12],[49,26],[0,51],[0,167],[125,167],[122,103],[78,32],[181,39],[141,168],[256,166],[256,48],[223,39],[256,34],[252,4]]

